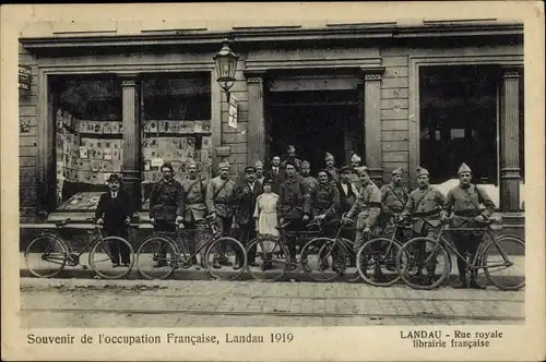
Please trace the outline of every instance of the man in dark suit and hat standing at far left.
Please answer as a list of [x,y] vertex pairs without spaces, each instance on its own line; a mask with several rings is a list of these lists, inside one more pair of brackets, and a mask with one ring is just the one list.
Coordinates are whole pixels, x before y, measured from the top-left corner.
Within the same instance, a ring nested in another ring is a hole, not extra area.
[[[108,178],[109,192],[100,195],[95,218],[98,225],[104,225],[104,230],[108,237],[120,237],[127,240],[129,236],[128,226],[131,221],[132,204],[131,197],[121,189],[121,180],[116,173]],[[119,241],[110,243],[110,257],[114,267],[120,266],[120,260],[123,266],[128,267],[129,248]]]

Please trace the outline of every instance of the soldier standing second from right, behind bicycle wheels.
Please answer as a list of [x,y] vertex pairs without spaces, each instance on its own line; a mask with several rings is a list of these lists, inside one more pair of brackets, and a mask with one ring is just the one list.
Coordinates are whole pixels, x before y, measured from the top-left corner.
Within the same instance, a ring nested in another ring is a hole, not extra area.
[[[435,239],[434,231],[440,225],[440,212],[446,204],[446,196],[435,186],[429,184],[429,173],[425,168],[417,168],[417,185],[410,193],[406,206],[401,218],[414,217],[414,237],[427,237]],[[432,243],[426,243],[425,251],[428,253]],[[422,280],[424,285],[430,285],[435,277],[436,258],[425,265],[427,277]],[[418,273],[422,273],[419,268]]]

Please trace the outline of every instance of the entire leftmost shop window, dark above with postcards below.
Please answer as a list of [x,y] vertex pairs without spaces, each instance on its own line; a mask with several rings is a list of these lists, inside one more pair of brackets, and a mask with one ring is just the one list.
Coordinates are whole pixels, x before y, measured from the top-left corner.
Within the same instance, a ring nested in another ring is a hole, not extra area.
[[57,209],[94,210],[106,180],[121,172],[121,83],[109,76],[50,80]]

